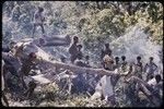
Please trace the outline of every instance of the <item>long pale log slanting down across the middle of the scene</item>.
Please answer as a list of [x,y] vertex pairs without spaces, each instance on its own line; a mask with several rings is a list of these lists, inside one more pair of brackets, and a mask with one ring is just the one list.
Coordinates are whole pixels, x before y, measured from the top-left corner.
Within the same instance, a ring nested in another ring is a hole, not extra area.
[[[24,45],[27,46],[27,45]],[[104,69],[93,69],[93,68],[82,68],[82,66],[77,66],[74,64],[66,64],[62,62],[58,62],[58,61],[50,61],[49,60],[49,55],[47,55],[44,50],[42,50],[39,47],[37,47],[36,45],[31,45],[33,46],[33,49],[36,49],[36,56],[39,57],[42,59],[38,60],[38,63],[40,64],[40,68],[44,68],[44,70],[49,69],[49,68],[56,68],[57,70],[62,68],[66,70],[70,70],[73,73],[81,73],[81,72],[86,72],[86,73],[92,73],[92,74],[98,74],[98,75],[119,75],[116,74],[114,71],[107,71]],[[32,49],[32,47],[31,47]],[[27,53],[28,51],[23,50],[22,55]]]

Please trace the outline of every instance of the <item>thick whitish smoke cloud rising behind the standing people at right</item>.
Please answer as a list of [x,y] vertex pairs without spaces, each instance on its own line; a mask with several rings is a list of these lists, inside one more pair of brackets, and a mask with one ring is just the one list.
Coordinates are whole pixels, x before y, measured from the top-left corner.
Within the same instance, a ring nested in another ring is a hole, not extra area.
[[145,64],[149,62],[149,58],[153,57],[154,62],[162,68],[162,46],[155,45],[148,38],[148,35],[143,32],[143,29],[136,25],[133,27],[129,27],[126,34],[116,40],[113,40],[112,49],[114,56],[126,56],[127,61],[136,61],[136,58],[140,56],[142,58],[142,62]]

